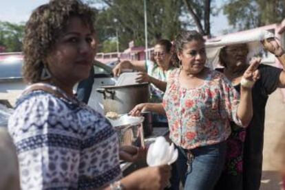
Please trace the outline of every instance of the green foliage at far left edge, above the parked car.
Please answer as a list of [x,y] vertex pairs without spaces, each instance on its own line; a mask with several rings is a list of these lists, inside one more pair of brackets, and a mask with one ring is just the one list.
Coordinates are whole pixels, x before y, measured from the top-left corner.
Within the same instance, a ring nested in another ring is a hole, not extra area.
[[22,51],[24,24],[13,24],[0,21],[0,45],[7,52]]

